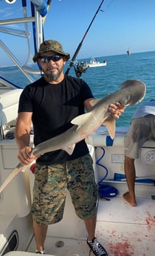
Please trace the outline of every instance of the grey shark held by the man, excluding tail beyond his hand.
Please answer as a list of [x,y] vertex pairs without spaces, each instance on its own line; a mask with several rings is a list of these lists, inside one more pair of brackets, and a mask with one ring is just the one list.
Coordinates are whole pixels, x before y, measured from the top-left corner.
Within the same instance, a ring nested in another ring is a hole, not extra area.
[[129,79],[120,85],[120,90],[108,94],[103,99],[94,99],[90,111],[72,119],[72,127],[62,134],[41,142],[32,149],[32,154],[41,155],[49,151],[63,150],[72,154],[75,145],[89,137],[100,125],[105,125],[111,139],[114,140],[115,119],[108,111],[111,103],[120,102],[124,106],[132,106],[145,97],[145,83],[137,79]]

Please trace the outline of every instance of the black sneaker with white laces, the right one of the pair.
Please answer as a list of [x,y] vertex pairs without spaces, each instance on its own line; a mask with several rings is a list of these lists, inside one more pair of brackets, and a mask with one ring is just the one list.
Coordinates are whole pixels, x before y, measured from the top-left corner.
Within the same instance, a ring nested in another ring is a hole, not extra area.
[[94,237],[92,242],[89,242],[87,240],[87,243],[96,256],[108,256],[108,253],[106,252],[106,249],[98,242],[97,238]]

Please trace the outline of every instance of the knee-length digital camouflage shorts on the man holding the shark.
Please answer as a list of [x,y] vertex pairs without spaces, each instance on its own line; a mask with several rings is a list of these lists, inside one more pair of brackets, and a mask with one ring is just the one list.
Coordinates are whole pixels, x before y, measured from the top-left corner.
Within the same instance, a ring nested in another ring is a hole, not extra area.
[[77,216],[83,220],[94,217],[97,185],[89,154],[66,163],[36,165],[31,210],[36,223],[49,225],[63,218],[66,188]]

